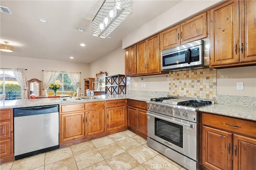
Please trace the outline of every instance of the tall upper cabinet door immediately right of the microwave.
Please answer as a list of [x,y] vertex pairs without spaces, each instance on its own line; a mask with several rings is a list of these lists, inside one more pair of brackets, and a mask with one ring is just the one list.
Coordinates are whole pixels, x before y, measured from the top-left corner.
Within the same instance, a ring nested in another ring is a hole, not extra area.
[[238,1],[210,10],[211,66],[239,63]]

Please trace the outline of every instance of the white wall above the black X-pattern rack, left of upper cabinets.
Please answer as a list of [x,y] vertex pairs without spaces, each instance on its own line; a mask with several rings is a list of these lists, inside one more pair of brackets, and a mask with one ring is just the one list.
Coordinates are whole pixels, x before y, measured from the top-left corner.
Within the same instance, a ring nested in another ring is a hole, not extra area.
[[108,76],[124,74],[124,50],[121,47],[90,63],[90,77],[96,78],[101,71],[108,72]]

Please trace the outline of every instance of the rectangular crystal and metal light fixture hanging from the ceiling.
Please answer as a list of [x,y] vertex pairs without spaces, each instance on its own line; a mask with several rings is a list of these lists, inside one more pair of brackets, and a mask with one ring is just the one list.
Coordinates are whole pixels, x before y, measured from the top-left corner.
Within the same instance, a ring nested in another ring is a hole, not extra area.
[[92,35],[106,38],[132,14],[132,0],[104,0],[92,20]]

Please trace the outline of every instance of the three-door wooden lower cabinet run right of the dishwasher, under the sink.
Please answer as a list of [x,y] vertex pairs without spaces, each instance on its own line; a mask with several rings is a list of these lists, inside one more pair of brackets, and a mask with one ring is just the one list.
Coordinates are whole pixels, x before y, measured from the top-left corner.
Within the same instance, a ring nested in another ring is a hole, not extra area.
[[60,105],[60,148],[128,129],[127,100]]

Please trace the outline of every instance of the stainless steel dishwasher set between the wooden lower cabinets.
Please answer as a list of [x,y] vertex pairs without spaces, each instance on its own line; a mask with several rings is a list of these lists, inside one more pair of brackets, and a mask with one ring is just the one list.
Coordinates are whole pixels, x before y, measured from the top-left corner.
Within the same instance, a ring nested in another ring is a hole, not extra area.
[[15,160],[59,148],[58,105],[14,108]]

